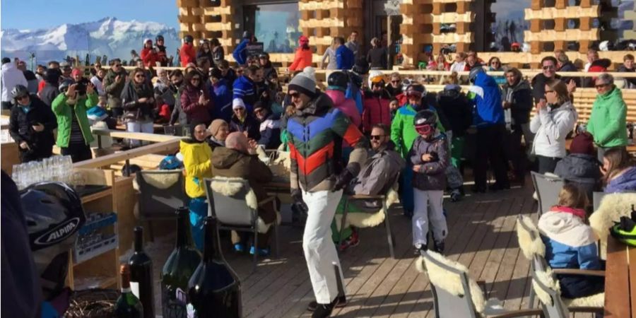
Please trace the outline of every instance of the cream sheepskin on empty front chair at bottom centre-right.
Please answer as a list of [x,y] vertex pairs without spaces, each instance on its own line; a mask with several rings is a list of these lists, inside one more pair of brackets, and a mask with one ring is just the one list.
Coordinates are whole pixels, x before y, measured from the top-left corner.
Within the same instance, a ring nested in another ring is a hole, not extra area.
[[[466,266],[464,266],[463,264],[459,264],[457,261],[451,261],[450,259],[443,257],[441,254],[432,251],[428,251],[427,253],[432,259],[435,259],[436,261],[439,261],[446,266],[452,267],[453,269],[457,269],[458,271],[466,274],[469,273],[468,269],[466,269]],[[424,269],[424,266],[426,270]],[[464,285],[461,284],[461,276],[457,275],[456,273],[452,273],[440,266],[437,266],[437,264],[433,263],[432,261],[428,261],[428,259],[426,259],[425,257],[416,259],[416,268],[420,272],[426,271],[428,273],[428,279],[430,280],[430,283],[432,285],[435,285],[435,288],[446,290],[447,293],[450,293],[452,295],[466,295]],[[480,315],[483,315],[486,307],[486,302],[483,297],[483,291],[481,290],[481,288],[479,288],[479,285],[477,285],[476,281],[474,281],[470,277],[468,278],[468,280],[471,292],[471,300],[473,301],[475,310]]]

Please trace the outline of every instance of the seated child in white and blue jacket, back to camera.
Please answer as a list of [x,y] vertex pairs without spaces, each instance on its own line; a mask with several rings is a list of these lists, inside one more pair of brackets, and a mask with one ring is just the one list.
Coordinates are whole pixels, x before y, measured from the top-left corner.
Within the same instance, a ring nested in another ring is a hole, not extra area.
[[[603,269],[596,249],[596,235],[586,224],[587,195],[576,184],[565,184],[556,206],[541,214],[538,230],[546,245],[546,261],[553,269]],[[601,293],[603,278],[557,275],[564,298]]]

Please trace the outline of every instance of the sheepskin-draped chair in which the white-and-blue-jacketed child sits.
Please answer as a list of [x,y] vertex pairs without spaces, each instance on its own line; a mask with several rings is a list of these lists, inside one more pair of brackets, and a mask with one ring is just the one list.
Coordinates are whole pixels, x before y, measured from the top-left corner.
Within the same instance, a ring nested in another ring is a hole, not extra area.
[[[605,276],[605,271],[592,271],[588,269],[550,269],[548,261],[546,261],[546,246],[541,240],[538,228],[534,222],[527,216],[519,216],[517,218],[517,237],[519,239],[519,248],[522,250],[524,257],[530,261],[530,271],[546,272],[549,271],[553,275],[584,275],[584,276]],[[552,278],[555,280],[555,278]],[[536,288],[530,289],[529,308],[534,307],[534,298]],[[572,300],[563,300],[572,312],[599,312],[603,310],[604,293],[591,295]],[[558,317],[558,316],[555,316]]]

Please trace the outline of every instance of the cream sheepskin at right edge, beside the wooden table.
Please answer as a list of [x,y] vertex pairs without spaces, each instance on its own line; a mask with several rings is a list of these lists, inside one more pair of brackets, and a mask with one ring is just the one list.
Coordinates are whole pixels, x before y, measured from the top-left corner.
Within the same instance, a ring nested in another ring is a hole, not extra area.
[[602,255],[606,252],[609,228],[614,225],[614,222],[618,222],[621,216],[630,217],[632,204],[636,204],[635,193],[606,194],[601,200],[599,209],[589,217],[589,225],[601,240]]

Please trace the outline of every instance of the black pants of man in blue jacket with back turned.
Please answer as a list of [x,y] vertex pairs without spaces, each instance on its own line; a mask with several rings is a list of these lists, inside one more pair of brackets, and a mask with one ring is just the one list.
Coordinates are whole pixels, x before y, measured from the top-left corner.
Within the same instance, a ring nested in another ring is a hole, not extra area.
[[488,162],[495,172],[497,184],[510,185],[507,175],[507,163],[504,163],[505,125],[488,126],[477,129],[476,155],[474,165],[475,185],[479,189],[486,187],[486,171]]

